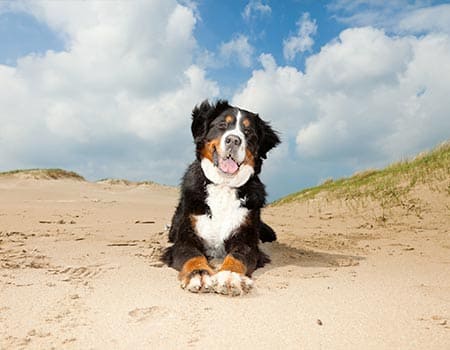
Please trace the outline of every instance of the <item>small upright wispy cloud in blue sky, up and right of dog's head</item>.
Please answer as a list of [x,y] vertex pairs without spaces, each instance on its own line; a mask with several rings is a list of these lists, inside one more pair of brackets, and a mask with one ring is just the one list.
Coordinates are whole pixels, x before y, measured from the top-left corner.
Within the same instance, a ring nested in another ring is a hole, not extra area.
[[303,13],[297,22],[298,31],[283,41],[284,58],[292,61],[295,56],[305,51],[310,51],[314,45],[312,38],[317,32],[315,20],[311,20],[309,13]]

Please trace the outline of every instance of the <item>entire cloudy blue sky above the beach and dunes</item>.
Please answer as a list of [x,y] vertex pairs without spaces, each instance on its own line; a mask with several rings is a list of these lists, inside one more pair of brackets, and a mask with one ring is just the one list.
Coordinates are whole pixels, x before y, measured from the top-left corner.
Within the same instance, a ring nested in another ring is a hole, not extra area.
[[227,98],[281,133],[273,200],[449,139],[449,93],[445,1],[0,2],[0,171],[177,184]]

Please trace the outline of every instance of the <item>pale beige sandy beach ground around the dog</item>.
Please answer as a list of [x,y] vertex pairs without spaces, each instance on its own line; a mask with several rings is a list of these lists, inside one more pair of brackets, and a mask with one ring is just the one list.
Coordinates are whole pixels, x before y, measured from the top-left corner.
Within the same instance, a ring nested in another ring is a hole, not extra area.
[[0,178],[0,348],[449,349],[450,200],[424,191],[266,208],[272,263],[233,298],[159,263],[176,189]]

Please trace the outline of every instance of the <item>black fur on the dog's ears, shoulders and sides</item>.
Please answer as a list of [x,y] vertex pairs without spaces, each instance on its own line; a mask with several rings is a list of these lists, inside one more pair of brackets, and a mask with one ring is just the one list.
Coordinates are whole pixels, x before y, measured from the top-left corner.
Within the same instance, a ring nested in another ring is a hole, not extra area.
[[[181,183],[181,196],[169,232],[172,246],[164,251],[162,261],[181,270],[184,263],[197,256],[206,256],[206,248],[192,224],[192,215],[211,215],[206,203],[206,186],[211,182],[201,168],[201,150],[205,146],[206,136],[211,123],[228,109],[236,110],[227,101],[211,104],[202,102],[192,111],[191,131],[196,145],[196,160],[188,167]],[[258,267],[264,266],[270,259],[260,251],[258,243],[276,239],[276,234],[267,224],[261,221],[261,208],[265,205],[266,191],[258,174],[267,152],[280,143],[278,135],[270,125],[257,114],[251,114],[252,133],[247,140],[248,148],[255,160],[254,175],[237,190],[241,205],[249,209],[246,221],[225,242],[225,251],[240,260],[247,268],[247,275]],[[209,258],[209,257],[207,257]]]

